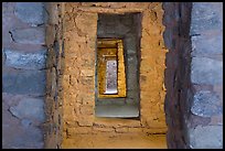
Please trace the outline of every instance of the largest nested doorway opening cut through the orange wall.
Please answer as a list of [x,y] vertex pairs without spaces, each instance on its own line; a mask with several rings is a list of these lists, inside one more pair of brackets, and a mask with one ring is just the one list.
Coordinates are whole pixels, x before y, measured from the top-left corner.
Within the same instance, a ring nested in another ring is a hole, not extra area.
[[98,14],[95,116],[139,119],[141,13]]

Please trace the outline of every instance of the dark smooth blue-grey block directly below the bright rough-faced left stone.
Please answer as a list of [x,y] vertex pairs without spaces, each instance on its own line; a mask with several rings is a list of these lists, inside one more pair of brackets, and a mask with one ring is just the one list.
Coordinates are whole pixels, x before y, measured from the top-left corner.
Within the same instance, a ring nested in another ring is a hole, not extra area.
[[[45,76],[44,71],[3,71],[2,89],[4,93],[11,94],[45,94]],[[24,85],[25,84],[25,85]]]

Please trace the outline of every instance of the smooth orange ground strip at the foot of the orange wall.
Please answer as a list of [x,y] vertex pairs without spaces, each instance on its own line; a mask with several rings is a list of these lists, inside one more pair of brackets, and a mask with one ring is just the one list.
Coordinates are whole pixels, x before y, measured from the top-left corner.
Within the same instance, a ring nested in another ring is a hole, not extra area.
[[122,133],[77,134],[66,139],[63,148],[67,149],[167,149],[165,134]]

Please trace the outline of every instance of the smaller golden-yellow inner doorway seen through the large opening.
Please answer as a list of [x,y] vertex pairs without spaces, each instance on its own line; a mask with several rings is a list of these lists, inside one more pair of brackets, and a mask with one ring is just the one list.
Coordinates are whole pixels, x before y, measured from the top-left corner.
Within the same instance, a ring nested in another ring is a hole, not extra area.
[[126,97],[122,40],[97,40],[97,83],[99,98]]

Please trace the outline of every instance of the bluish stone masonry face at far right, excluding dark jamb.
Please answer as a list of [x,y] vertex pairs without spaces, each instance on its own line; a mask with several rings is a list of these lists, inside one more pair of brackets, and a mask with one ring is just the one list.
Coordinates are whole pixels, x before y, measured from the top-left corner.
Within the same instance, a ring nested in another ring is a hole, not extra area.
[[223,149],[223,2],[194,2],[190,148]]

